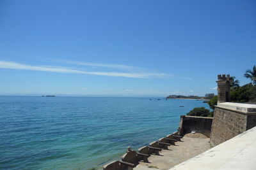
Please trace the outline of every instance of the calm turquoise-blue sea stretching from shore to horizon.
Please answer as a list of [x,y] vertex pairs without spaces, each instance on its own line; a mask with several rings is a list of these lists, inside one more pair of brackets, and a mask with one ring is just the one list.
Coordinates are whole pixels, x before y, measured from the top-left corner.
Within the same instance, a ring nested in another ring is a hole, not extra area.
[[[202,101],[0,96],[0,169],[98,169],[177,130]],[[179,106],[184,106],[181,108]]]

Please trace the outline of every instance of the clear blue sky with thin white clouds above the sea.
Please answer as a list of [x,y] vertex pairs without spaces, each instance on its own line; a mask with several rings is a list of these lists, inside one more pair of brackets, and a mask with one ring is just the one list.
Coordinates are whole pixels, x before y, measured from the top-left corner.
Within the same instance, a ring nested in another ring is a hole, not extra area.
[[256,1],[0,1],[0,94],[216,94],[256,64]]

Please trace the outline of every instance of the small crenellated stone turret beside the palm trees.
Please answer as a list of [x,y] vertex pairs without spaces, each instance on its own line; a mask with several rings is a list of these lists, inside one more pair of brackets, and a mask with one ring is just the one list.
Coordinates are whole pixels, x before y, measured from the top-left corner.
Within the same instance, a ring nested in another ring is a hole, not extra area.
[[218,103],[230,102],[230,75],[219,74],[218,80]]

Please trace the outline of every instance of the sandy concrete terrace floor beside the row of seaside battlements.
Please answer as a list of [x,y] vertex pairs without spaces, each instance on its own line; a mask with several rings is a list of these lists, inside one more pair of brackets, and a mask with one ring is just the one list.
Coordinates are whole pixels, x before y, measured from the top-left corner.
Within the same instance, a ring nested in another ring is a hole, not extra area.
[[202,134],[187,134],[181,140],[176,146],[168,146],[169,150],[162,150],[160,155],[151,155],[148,158],[150,163],[140,162],[134,169],[170,169],[210,149],[209,138]]

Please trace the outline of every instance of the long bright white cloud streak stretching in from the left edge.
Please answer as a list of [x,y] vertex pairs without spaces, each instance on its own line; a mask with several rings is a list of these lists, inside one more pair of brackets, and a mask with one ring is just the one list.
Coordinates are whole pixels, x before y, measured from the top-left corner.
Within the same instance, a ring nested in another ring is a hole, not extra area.
[[118,73],[118,72],[81,71],[78,69],[70,69],[66,67],[31,66],[26,64],[19,64],[17,62],[7,62],[7,61],[1,61],[1,60],[0,60],[0,68],[47,71],[47,72],[54,72],[54,73],[92,74],[92,75],[99,75],[99,76],[116,76],[116,77],[127,77],[127,78],[163,78],[168,76],[168,74],[164,74],[164,73]]

